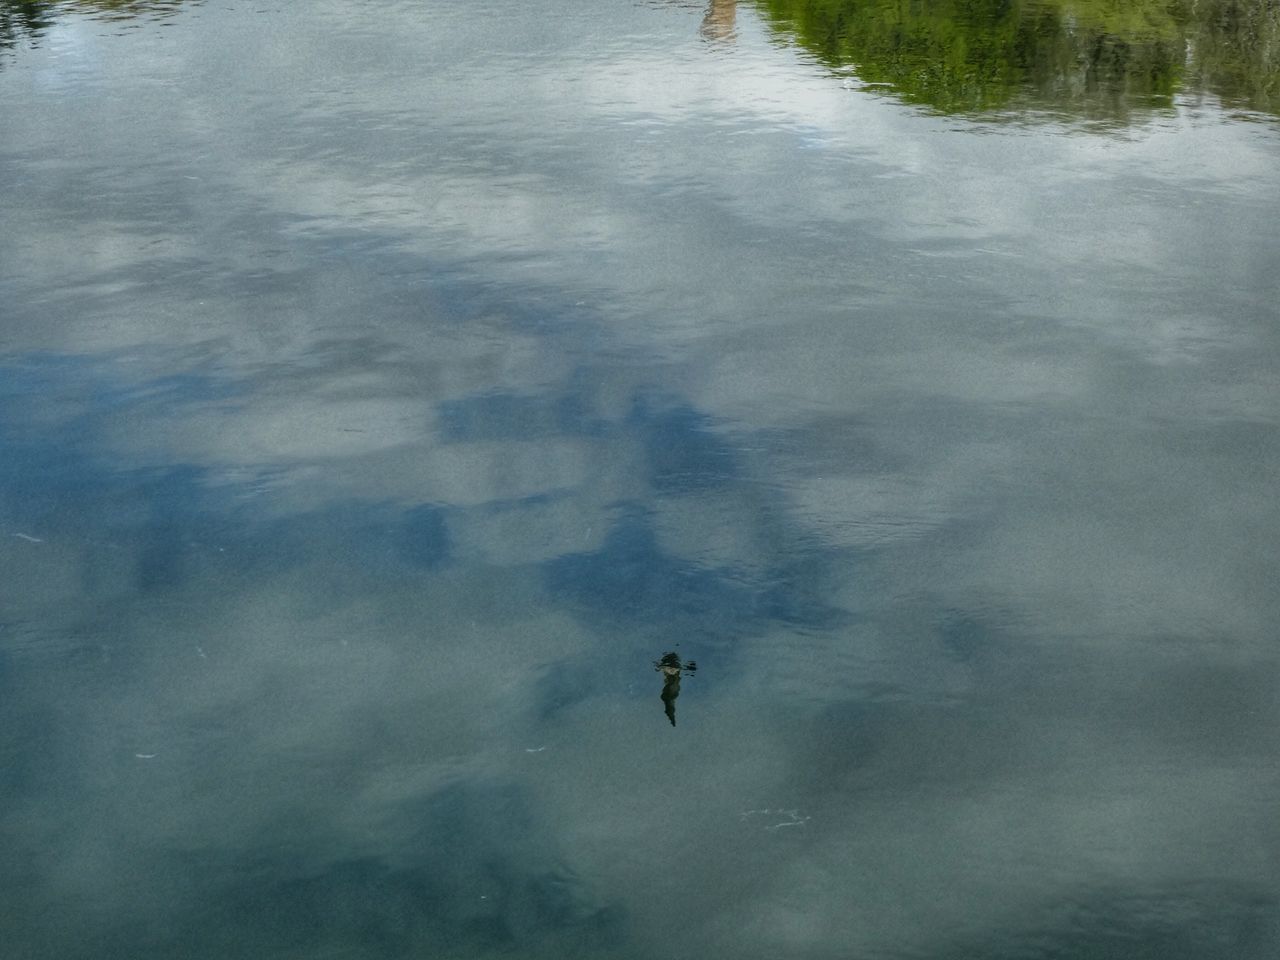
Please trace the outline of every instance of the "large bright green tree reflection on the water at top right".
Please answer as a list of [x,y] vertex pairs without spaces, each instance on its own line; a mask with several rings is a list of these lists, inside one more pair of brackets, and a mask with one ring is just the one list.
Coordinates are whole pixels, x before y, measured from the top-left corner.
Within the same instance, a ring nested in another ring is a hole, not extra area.
[[1280,0],[756,0],[823,63],[941,113],[1098,120],[1207,92],[1280,114]]

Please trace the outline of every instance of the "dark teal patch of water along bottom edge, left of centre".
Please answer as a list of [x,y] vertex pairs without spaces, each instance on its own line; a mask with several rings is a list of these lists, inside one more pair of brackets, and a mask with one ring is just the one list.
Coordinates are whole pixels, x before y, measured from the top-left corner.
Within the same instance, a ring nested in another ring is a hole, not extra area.
[[[552,938],[572,950],[620,936],[620,910],[591,901],[547,849],[518,788],[468,781],[404,804],[396,819],[406,838],[387,856],[315,863],[324,840],[303,836],[312,867],[287,850],[227,864],[210,891],[219,916],[196,919],[193,934],[234,932],[232,948],[252,931],[259,950],[340,947],[362,957],[529,950]],[[200,955],[219,954],[205,946]]]

